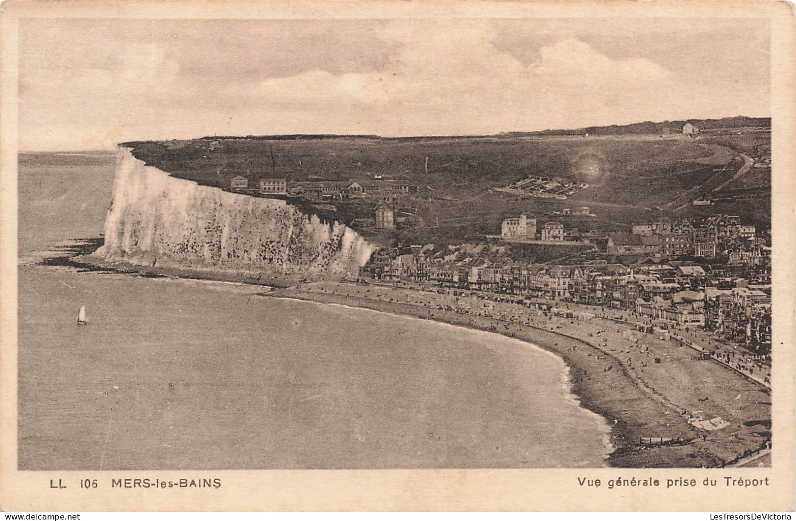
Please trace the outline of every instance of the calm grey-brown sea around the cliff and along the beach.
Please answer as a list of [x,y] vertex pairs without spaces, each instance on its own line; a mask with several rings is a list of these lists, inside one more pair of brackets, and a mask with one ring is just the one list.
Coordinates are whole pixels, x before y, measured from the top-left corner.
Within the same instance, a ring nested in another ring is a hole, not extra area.
[[[22,259],[102,233],[113,161],[21,163]],[[20,468],[603,465],[560,358],[259,291],[21,265]]]

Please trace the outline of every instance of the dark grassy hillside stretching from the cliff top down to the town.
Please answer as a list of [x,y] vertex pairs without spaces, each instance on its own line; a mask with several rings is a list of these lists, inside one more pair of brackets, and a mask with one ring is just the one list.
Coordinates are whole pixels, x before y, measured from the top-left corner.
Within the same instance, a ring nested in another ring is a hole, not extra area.
[[[228,186],[235,175],[284,176],[288,183],[323,179],[367,181],[404,178],[416,194],[403,198],[398,229],[373,229],[377,200],[302,204],[304,210],[335,218],[380,242],[439,245],[482,240],[500,233],[504,217],[529,212],[540,220],[564,221],[567,229],[626,230],[633,221],[660,216],[745,212],[764,223],[766,194],[743,202],[727,198],[697,209],[685,203],[727,181],[742,156],[770,157],[769,135],[496,135],[487,137],[379,138],[377,136],[289,136],[205,138],[126,143],[147,164],[201,184]],[[768,152],[767,152],[768,151]],[[759,187],[766,173],[751,169],[727,190]],[[767,170],[768,171],[768,170]],[[565,200],[534,198],[495,189],[529,176],[588,183]],[[756,179],[756,180],[755,180]],[[770,183],[769,183],[770,186]],[[732,192],[730,192],[732,194]],[[677,203],[677,204],[675,204]],[[565,208],[589,206],[595,217],[556,217]],[[753,210],[751,210],[753,209]],[[675,211],[677,210],[677,211]]]

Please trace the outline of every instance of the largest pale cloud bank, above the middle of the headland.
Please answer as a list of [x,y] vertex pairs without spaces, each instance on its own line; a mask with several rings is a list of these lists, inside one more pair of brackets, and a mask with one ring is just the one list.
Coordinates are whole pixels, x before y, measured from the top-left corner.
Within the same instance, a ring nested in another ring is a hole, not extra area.
[[551,110],[643,109],[639,100],[653,108],[650,94],[673,76],[652,61],[614,60],[576,39],[553,41],[538,61],[525,64],[495,47],[498,33],[490,22],[394,22],[382,37],[397,49],[384,70],[302,72],[264,80],[252,94],[270,107],[353,111],[371,124],[360,131],[488,133],[544,126]]

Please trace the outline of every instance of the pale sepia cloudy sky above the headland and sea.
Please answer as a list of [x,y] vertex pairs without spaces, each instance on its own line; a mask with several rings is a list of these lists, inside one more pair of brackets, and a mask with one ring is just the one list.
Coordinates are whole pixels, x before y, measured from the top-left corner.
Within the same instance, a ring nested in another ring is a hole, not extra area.
[[20,150],[771,116],[769,30],[743,18],[27,19]]

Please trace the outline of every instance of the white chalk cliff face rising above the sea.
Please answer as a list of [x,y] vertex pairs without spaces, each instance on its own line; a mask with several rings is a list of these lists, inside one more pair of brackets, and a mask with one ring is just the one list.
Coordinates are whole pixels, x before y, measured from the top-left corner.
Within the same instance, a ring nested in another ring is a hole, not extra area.
[[105,220],[108,260],[223,272],[356,275],[375,247],[353,229],[253,198],[174,178],[120,148]]

